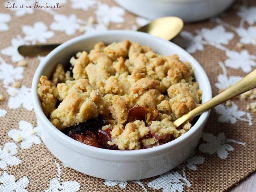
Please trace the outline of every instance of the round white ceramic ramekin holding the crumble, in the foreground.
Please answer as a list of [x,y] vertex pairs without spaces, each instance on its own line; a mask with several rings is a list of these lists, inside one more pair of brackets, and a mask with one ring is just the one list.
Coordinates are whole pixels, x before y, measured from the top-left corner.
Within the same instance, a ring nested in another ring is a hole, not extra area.
[[87,175],[110,180],[139,180],[159,175],[182,163],[195,149],[202,134],[209,111],[199,117],[195,125],[181,137],[150,149],[131,151],[108,150],[82,144],[55,128],[40,106],[37,84],[41,75],[49,78],[58,63],[67,64],[71,56],[81,50],[89,51],[97,42],[106,44],[131,40],[151,47],[162,55],[178,54],[188,61],[195,71],[195,78],[202,89],[202,102],[211,99],[211,86],[200,64],[177,45],[137,31],[106,31],[78,36],[55,48],[45,57],[36,70],[32,83],[33,104],[42,140],[48,149],[67,166]]

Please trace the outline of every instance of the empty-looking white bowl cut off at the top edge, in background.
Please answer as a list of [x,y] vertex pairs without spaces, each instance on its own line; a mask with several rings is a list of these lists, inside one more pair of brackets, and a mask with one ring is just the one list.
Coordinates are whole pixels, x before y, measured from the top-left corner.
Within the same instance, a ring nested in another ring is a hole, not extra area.
[[176,16],[185,22],[214,17],[234,0],[115,0],[121,7],[148,19]]

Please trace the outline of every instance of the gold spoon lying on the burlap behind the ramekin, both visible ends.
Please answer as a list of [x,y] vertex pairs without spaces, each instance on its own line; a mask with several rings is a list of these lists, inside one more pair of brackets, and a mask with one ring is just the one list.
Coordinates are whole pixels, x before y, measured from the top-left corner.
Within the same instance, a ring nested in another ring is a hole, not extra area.
[[[138,28],[137,31],[149,33],[165,40],[171,40],[180,33],[183,28],[183,21],[178,17],[161,17],[149,24]],[[21,45],[18,47],[19,54],[26,56],[35,56],[50,52],[61,44],[44,45]]]

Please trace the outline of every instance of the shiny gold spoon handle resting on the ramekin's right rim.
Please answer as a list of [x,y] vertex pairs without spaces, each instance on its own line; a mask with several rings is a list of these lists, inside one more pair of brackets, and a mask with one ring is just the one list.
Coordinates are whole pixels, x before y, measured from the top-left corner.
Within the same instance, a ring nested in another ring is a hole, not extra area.
[[237,95],[240,95],[244,92],[247,92],[256,87],[256,69],[249,73],[247,76],[242,78],[242,80],[238,81],[234,85],[230,86],[225,91],[221,92],[220,94],[216,95],[209,101],[205,102],[199,107],[196,107],[192,111],[188,112],[187,114],[183,115],[182,117],[176,119],[173,122],[175,127],[178,127],[188,121],[189,119],[194,118],[195,116],[201,114],[204,111],[211,109],[212,107],[221,104]]

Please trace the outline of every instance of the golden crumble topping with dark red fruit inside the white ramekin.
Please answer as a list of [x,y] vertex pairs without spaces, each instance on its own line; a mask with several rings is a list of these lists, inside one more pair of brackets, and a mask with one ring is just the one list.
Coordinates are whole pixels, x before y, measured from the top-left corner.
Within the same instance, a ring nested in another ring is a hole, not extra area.
[[104,149],[145,149],[187,132],[173,121],[201,102],[193,69],[178,55],[162,56],[125,40],[99,42],[58,64],[38,95],[51,123],[69,137]]

